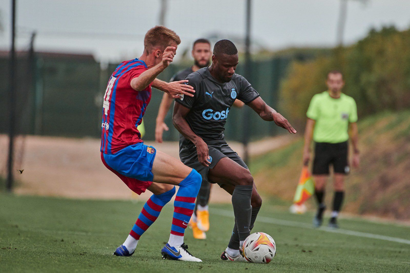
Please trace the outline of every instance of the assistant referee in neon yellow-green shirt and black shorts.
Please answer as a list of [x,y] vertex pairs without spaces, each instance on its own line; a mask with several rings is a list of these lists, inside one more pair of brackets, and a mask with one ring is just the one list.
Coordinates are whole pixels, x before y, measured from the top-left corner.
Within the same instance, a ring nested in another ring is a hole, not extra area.
[[325,186],[329,176],[329,166],[332,165],[335,195],[329,227],[338,228],[337,216],[344,198],[344,177],[350,171],[348,164],[349,127],[353,146],[353,167],[358,167],[360,162],[356,123],[358,115],[355,100],[342,93],[344,80],[340,71],[330,71],[326,85],[328,91],[314,95],[307,109],[303,164],[309,164],[310,143],[313,135],[315,148],[312,173],[318,203],[313,225],[319,227],[323,221],[323,212],[326,209],[323,203]]

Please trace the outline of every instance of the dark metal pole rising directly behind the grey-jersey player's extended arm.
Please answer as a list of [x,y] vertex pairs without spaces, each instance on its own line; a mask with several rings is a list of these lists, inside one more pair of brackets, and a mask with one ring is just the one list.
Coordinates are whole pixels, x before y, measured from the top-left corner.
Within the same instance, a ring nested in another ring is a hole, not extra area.
[[[245,69],[244,77],[249,81],[251,80],[251,0],[246,0],[246,27],[245,27]],[[242,144],[244,146],[244,162],[249,166],[249,132],[251,122],[249,120],[250,109],[245,107],[243,116],[243,131],[242,131]]]

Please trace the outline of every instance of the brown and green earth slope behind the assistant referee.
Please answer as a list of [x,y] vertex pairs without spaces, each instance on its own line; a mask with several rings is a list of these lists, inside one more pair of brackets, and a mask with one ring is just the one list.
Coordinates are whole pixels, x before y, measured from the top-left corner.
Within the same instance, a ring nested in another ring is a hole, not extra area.
[[[359,122],[361,167],[346,179],[344,211],[410,219],[410,111],[385,112]],[[256,157],[255,180],[267,194],[292,200],[302,168],[303,140]],[[330,182],[330,181],[329,181]],[[333,198],[328,183],[326,202]]]

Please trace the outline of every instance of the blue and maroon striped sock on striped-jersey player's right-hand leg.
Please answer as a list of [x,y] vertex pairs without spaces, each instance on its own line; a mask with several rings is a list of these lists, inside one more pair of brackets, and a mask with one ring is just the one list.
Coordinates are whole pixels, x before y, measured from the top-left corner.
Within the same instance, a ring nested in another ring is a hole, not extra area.
[[180,182],[174,201],[174,215],[171,225],[169,246],[180,246],[184,242],[185,229],[195,207],[195,198],[201,186],[202,177],[194,169]]

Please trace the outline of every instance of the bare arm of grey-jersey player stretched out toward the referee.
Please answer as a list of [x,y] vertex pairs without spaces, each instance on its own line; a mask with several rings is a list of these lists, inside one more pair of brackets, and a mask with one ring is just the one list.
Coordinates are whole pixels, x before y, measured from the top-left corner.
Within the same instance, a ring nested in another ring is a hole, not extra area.
[[266,104],[261,97],[248,103],[249,107],[253,109],[264,121],[274,121],[279,127],[285,128],[291,134],[296,134],[296,130],[290,125],[286,118],[275,111],[272,107]]

